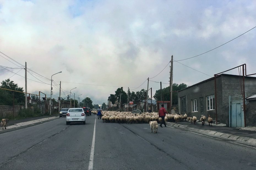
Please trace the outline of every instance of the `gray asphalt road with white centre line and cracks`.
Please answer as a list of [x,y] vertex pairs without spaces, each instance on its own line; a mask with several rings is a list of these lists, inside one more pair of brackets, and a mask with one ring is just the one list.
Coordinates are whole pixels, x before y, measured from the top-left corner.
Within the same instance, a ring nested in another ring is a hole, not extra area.
[[148,124],[102,123],[95,115],[85,125],[57,118],[0,140],[0,169],[256,169],[255,148],[171,127],[154,134]]

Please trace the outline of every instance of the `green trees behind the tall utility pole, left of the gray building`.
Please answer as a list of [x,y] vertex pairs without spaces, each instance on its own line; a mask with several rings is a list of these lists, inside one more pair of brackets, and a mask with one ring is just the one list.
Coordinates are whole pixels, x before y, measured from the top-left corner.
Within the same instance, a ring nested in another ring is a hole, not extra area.
[[[172,90],[173,91],[179,91],[182,89],[187,88],[187,84],[185,83],[181,83],[181,84],[177,84],[177,83],[173,83],[172,85]],[[170,86],[165,87],[164,89],[162,89],[162,97],[164,101],[170,101]],[[158,101],[161,100],[161,93],[160,93],[160,89],[156,90],[156,93],[154,95],[154,98]],[[173,92],[172,93],[172,105],[177,105],[178,104],[178,94],[177,92]]]

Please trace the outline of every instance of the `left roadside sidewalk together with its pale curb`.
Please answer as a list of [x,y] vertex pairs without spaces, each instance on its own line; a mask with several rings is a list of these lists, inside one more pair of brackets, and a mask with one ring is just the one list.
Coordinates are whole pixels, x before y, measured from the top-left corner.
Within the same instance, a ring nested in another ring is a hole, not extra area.
[[8,129],[15,129],[20,128],[22,126],[28,126],[36,123],[41,123],[43,121],[48,121],[52,119],[59,118],[59,116],[41,116],[41,117],[31,117],[26,119],[20,119],[20,120],[10,120],[6,126],[6,129],[2,130],[2,127],[0,128],[0,132],[7,131]]

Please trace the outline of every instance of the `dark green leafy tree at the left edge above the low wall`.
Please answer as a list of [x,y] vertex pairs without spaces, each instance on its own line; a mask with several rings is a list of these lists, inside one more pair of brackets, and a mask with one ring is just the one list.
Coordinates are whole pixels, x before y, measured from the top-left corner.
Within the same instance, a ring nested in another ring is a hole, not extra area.
[[6,79],[2,81],[0,87],[4,89],[19,91],[19,92],[13,92],[13,91],[1,89],[1,92],[0,92],[1,104],[12,105],[13,95],[14,95],[14,104],[25,103],[25,95],[24,93],[20,93],[20,92],[23,92],[23,87],[18,87],[18,84],[15,84],[13,81],[10,81],[10,79]]

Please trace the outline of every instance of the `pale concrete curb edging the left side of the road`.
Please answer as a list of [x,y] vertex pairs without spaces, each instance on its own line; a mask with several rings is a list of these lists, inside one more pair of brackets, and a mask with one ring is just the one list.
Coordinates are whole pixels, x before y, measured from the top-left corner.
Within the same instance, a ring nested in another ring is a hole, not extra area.
[[47,118],[31,120],[31,121],[26,121],[26,122],[21,122],[21,123],[15,123],[14,125],[7,126],[8,129],[2,130],[2,128],[1,128],[0,133],[10,132],[10,131],[13,131],[13,130],[16,130],[16,129],[21,129],[21,128],[27,127],[29,125],[32,126],[32,125],[40,124],[40,123],[43,123],[45,121],[54,120],[56,118],[59,118],[59,116],[47,117]]

